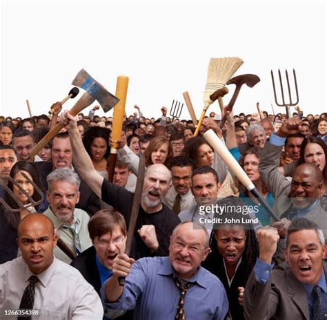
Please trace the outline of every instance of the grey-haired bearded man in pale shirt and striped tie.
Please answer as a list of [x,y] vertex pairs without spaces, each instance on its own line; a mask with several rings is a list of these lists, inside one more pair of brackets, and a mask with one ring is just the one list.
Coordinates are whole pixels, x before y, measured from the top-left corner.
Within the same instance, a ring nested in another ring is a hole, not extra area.
[[[81,180],[71,169],[61,168],[52,171],[47,182],[50,207],[43,214],[52,220],[61,240],[78,256],[92,245],[88,234],[90,216],[86,211],[75,208],[79,202]],[[54,248],[54,256],[66,263],[72,262],[59,247]]]

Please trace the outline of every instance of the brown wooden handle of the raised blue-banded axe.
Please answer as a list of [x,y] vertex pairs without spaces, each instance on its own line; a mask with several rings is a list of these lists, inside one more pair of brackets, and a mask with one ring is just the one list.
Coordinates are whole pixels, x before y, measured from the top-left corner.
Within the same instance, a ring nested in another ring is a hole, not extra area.
[[[72,107],[72,109],[70,109],[69,113],[71,115],[77,115],[78,113],[80,113],[83,109],[86,109],[87,106],[90,106],[90,104],[92,104],[95,101],[95,98],[92,97],[92,95],[90,95],[89,93],[85,92],[83,93],[83,95],[79,98],[79,100],[76,102],[76,104],[74,104],[74,106]],[[54,126],[54,128],[52,130],[50,130],[44,137],[42,140],[39,141],[39,143],[32,149],[31,153],[30,153],[30,157],[31,159],[34,158],[34,156],[37,155],[37,153],[39,153],[39,151],[46,147],[46,145],[48,144],[48,142],[50,140],[52,140],[54,138],[55,135],[57,135],[57,133],[59,131],[61,131],[61,129],[63,129],[64,125],[63,124],[57,124],[56,126]]]

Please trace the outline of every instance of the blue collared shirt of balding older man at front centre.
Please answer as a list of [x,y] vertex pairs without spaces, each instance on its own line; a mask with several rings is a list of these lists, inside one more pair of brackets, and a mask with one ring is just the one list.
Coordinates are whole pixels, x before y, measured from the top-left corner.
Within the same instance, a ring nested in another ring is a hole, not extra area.
[[[106,304],[106,317],[121,314],[119,310],[134,311],[134,319],[174,319],[180,292],[172,279],[174,270],[168,257],[141,258],[132,265],[126,277],[123,294],[115,303],[108,303],[106,290],[101,288],[101,300]],[[186,319],[224,319],[228,300],[219,279],[199,267],[185,298]]]

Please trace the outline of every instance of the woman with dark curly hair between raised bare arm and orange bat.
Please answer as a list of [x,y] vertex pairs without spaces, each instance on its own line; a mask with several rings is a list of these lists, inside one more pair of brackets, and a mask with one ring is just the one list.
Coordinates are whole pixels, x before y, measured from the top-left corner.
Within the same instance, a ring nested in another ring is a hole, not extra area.
[[108,178],[106,167],[107,158],[110,155],[109,137],[110,130],[101,126],[90,126],[83,135],[86,152],[90,156],[95,170],[104,178]]

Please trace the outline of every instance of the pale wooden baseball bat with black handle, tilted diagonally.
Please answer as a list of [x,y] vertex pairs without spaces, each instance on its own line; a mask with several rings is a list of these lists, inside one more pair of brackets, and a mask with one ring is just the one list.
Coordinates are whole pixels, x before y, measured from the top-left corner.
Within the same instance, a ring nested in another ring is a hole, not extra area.
[[223,142],[220,141],[220,139],[217,137],[216,133],[209,129],[204,133],[204,138],[208,141],[208,144],[215,150],[215,152],[219,155],[219,157],[226,163],[227,167],[230,169],[230,172],[232,172],[239,181],[241,181],[241,184],[250,191],[250,193],[257,198],[259,203],[268,211],[271,218],[273,218],[275,221],[279,221],[279,218],[266,203],[266,200],[259,194],[259,191],[253,185],[253,182],[248,178],[244,170],[239,165],[239,162],[235,160],[235,158],[231,155],[231,153],[228,151],[227,147]]

